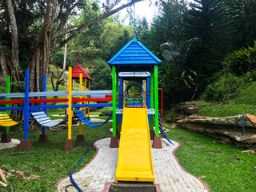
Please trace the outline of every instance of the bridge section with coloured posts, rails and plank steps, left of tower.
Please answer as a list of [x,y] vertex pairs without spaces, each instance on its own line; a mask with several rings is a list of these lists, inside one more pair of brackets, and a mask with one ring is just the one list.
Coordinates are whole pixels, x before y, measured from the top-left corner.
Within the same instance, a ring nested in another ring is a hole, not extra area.
[[[82,68],[78,66],[75,69],[81,70]],[[84,72],[84,71],[83,71]],[[85,73],[85,72],[84,72]],[[46,75],[43,76],[43,91],[42,92],[29,92],[29,70],[25,71],[25,93],[8,93],[10,90],[10,77],[7,77],[6,83],[6,94],[0,94],[1,98],[5,98],[5,101],[0,101],[0,104],[6,104],[6,107],[0,107],[0,111],[4,111],[4,114],[0,114],[0,125],[6,126],[4,130],[4,134],[2,134],[1,142],[10,142],[10,133],[8,126],[14,126],[18,123],[23,122],[23,130],[24,130],[24,139],[21,141],[21,144],[18,146],[19,150],[27,150],[32,147],[30,139],[28,138],[29,134],[29,121],[30,118],[35,118],[39,124],[42,125],[42,134],[39,136],[39,142],[48,141],[48,136],[46,134],[46,126],[57,126],[60,123],[65,123],[68,120],[68,138],[66,139],[66,144],[64,150],[71,150],[74,148],[74,140],[71,138],[71,129],[72,129],[72,118],[76,117],[74,108],[84,108],[83,113],[86,116],[86,108],[87,111],[87,119],[89,119],[89,107],[105,107],[112,106],[109,103],[99,103],[99,104],[90,104],[90,102],[98,102],[98,101],[112,101],[112,98],[106,98],[106,94],[112,94],[111,90],[90,90],[90,79],[86,76],[86,74],[80,71],[79,73],[79,90],[72,90],[72,83],[68,84],[68,90],[66,91],[52,91],[46,92]],[[77,78],[74,76],[74,78]],[[82,90],[82,78],[85,78],[88,81],[89,87],[85,86],[85,90]],[[69,82],[72,82],[72,69],[69,68]],[[49,96],[65,96],[65,98],[57,98],[50,99],[46,98]],[[68,98],[67,98],[68,96]],[[79,96],[79,98],[72,98],[73,96]],[[30,99],[31,97],[42,97],[38,99]],[[91,98],[90,98],[91,97]],[[10,100],[10,98],[23,98],[19,100]],[[48,102],[66,102],[64,105],[47,105]],[[72,104],[72,102],[79,102],[79,104]],[[84,102],[84,104],[82,104]],[[30,103],[42,103],[41,106],[31,106]],[[9,106],[10,104],[19,104],[22,106]],[[62,120],[62,122],[52,122],[49,117],[46,116],[47,109],[52,108],[65,108],[67,110],[67,116]],[[21,122],[14,122],[8,116],[8,111],[10,110],[23,110],[24,118]],[[84,136],[82,135],[82,121],[79,122],[79,134],[77,137],[77,142],[82,142],[84,140]]]

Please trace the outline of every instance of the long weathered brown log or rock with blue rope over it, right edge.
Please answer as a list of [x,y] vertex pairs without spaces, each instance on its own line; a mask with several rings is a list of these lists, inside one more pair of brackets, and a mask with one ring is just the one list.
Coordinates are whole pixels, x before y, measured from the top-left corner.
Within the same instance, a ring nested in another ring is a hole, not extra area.
[[[233,143],[238,147],[252,148],[247,142],[254,146],[256,145],[256,116],[245,114],[243,116],[243,123],[246,131],[246,138],[242,129],[242,115],[238,117],[238,124],[234,138],[234,128],[236,116],[226,118],[211,118],[193,116],[186,119],[178,120],[178,127],[187,130],[193,130],[206,134],[212,138],[217,138],[225,142]],[[254,147],[255,150],[255,147]]]

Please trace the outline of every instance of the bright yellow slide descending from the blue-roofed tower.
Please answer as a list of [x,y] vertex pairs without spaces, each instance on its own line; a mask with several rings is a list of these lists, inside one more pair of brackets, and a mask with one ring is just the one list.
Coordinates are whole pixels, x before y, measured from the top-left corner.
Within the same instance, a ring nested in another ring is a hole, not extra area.
[[124,108],[115,182],[153,182],[150,128],[146,108]]

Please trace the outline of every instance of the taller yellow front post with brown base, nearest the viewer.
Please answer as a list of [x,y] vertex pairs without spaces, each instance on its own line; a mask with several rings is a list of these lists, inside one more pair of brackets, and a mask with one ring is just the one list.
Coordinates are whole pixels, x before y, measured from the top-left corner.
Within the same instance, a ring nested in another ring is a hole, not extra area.
[[72,67],[69,67],[69,98],[68,98],[68,115],[69,115],[69,122],[68,122],[68,139],[72,138],[71,132],[72,132]]

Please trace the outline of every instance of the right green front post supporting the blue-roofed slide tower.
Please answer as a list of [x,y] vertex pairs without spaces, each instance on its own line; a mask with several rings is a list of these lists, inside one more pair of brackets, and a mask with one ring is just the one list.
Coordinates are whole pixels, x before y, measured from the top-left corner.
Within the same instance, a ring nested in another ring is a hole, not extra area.
[[158,127],[158,66],[154,65],[154,122],[155,122],[155,136],[159,136]]

